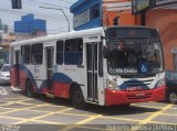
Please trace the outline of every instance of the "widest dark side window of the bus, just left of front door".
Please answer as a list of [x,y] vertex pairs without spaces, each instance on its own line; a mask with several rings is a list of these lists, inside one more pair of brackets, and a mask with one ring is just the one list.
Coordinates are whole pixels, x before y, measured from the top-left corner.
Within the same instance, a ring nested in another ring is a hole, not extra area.
[[83,62],[83,40],[72,39],[65,41],[64,64],[81,65]]

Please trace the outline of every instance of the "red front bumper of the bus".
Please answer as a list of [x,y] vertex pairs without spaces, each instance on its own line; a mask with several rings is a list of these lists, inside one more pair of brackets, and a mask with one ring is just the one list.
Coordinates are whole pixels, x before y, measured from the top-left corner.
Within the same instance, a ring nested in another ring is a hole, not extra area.
[[122,91],[105,89],[106,106],[126,105],[134,102],[160,101],[165,99],[166,87],[140,91]]

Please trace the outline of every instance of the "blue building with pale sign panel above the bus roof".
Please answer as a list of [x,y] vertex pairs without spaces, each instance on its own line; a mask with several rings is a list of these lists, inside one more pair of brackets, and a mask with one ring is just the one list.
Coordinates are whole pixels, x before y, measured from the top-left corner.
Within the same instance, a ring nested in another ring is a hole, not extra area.
[[102,0],[79,0],[71,8],[74,30],[102,25]]

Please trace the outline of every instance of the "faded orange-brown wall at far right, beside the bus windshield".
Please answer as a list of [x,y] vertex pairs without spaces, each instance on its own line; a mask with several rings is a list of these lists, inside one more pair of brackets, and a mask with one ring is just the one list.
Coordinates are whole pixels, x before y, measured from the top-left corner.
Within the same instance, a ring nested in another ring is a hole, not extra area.
[[165,68],[174,70],[171,48],[177,47],[177,10],[156,9],[146,13],[146,25],[159,30],[165,57]]

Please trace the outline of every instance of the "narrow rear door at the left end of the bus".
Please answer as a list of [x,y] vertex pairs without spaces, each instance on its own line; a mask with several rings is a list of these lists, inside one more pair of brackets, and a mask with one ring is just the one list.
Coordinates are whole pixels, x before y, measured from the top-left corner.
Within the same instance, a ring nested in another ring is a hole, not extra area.
[[19,87],[20,86],[20,50],[15,51],[15,86]]

